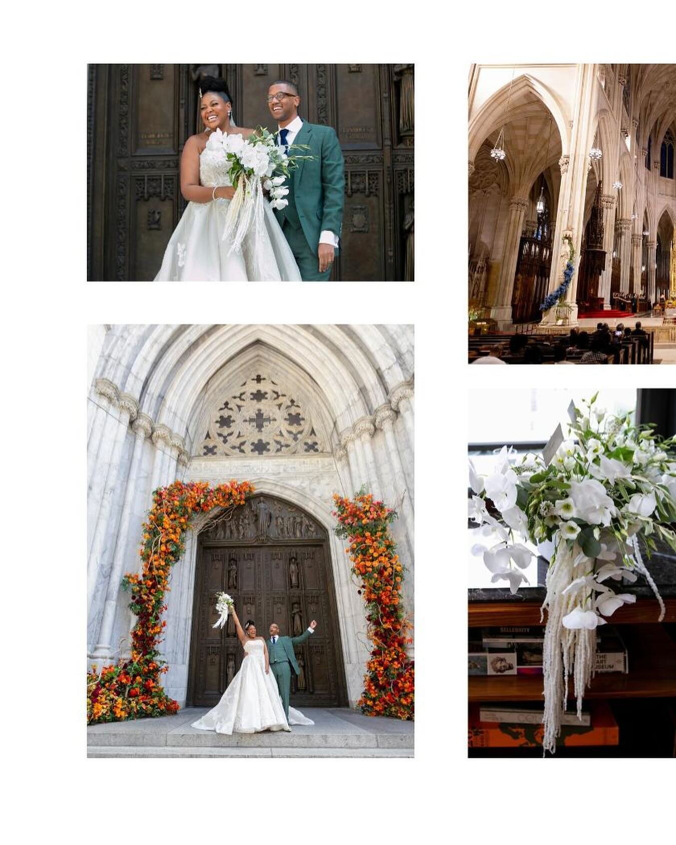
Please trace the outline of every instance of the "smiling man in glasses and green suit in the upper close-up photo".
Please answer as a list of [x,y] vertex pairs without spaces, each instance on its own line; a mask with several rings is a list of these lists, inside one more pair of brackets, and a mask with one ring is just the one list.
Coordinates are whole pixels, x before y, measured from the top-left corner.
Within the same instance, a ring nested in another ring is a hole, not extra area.
[[289,177],[289,204],[275,210],[303,281],[328,281],[341,236],[345,175],[343,154],[335,130],[298,117],[298,89],[280,79],[268,89],[268,108],[277,121],[277,144],[307,144],[309,150],[289,150],[299,159]]

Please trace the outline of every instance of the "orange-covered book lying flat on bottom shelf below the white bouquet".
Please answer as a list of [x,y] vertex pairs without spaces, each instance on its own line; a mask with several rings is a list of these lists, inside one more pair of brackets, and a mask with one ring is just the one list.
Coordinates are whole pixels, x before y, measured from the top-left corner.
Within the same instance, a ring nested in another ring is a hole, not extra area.
[[[589,702],[591,725],[564,725],[557,745],[618,745],[619,726],[608,701]],[[479,705],[470,705],[469,748],[536,748],[542,745],[542,725],[481,722]]]

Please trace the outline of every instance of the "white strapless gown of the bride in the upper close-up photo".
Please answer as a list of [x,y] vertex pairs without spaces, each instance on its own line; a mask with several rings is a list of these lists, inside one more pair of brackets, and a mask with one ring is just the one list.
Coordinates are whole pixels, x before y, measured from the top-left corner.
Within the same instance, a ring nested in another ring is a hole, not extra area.
[[[224,150],[205,148],[199,155],[199,182],[207,188],[231,185]],[[286,237],[264,199],[265,225],[260,235],[252,226],[241,250],[228,255],[224,241],[229,199],[188,203],[166,246],[155,281],[301,281]]]

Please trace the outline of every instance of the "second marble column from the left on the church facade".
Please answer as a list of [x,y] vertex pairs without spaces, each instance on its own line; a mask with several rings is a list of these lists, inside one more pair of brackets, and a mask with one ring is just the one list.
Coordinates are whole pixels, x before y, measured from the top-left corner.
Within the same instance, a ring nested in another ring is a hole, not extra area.
[[97,581],[100,577],[106,578],[107,570],[110,567],[111,550],[104,548],[106,532],[109,527],[108,521],[111,517],[115,491],[119,486],[120,474],[122,472],[121,456],[124,440],[127,437],[129,423],[133,422],[139,412],[139,403],[134,396],[120,394],[119,417],[117,429],[114,433],[110,462],[107,466],[101,466],[97,461],[101,472],[106,473],[106,482],[103,486],[101,505],[96,518],[94,536],[91,540],[89,559],[87,560],[87,608],[91,608],[94,598]]

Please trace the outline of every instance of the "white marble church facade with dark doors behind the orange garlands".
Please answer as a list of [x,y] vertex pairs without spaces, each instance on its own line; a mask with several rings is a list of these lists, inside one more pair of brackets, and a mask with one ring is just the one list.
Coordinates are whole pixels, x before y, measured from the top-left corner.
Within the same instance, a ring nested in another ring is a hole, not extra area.
[[254,484],[232,518],[195,522],[172,570],[165,689],[210,706],[239,668],[212,628],[226,590],[265,633],[318,627],[298,652],[299,706],[353,706],[368,659],[363,600],[333,494],[360,488],[392,526],[413,614],[413,330],[406,325],[113,325],[90,328],[88,662],[126,657],[152,492],[175,480]]

